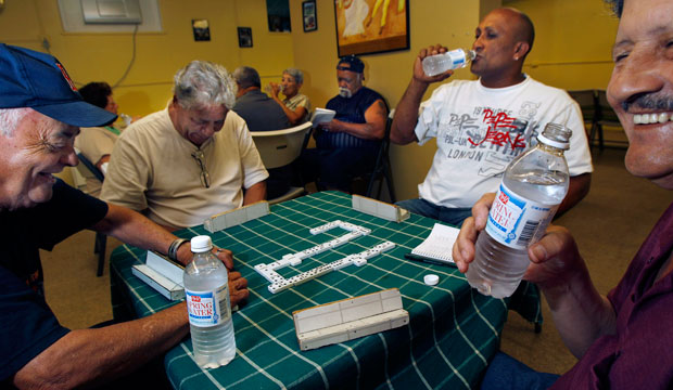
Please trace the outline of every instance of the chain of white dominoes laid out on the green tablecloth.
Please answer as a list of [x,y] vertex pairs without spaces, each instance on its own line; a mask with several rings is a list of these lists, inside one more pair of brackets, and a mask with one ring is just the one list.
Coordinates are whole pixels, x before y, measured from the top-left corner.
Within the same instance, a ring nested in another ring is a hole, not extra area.
[[284,266],[289,266],[289,265],[296,266],[301,264],[302,260],[306,258],[321,253],[328,249],[332,249],[338,246],[341,246],[350,242],[351,239],[371,233],[371,230],[367,227],[358,226],[353,223],[343,222],[340,220],[328,222],[323,225],[310,229],[309,232],[310,234],[316,235],[316,234],[325,233],[335,227],[344,229],[348,233],[340,237],[336,237],[332,240],[329,240],[327,243],[318,244],[312,248],[302,250],[300,252],[284,255],[280,260],[274,261],[272,263],[255,265],[255,271],[257,271],[259,275],[264,276],[267,281],[269,281],[270,283],[270,285],[268,286],[269,291],[271,294],[276,294],[287,288],[290,288],[292,286],[296,286],[304,282],[325,275],[328,272],[332,272],[334,270],[341,270],[342,268],[348,266],[351,264],[354,264],[356,266],[365,265],[367,263],[367,259],[370,259],[374,256],[378,256],[395,247],[394,243],[386,240],[370,249],[364,250],[359,253],[348,255],[342,259],[316,266],[309,271],[302,272],[290,278],[284,278],[282,275],[276,272],[276,270],[279,270]]

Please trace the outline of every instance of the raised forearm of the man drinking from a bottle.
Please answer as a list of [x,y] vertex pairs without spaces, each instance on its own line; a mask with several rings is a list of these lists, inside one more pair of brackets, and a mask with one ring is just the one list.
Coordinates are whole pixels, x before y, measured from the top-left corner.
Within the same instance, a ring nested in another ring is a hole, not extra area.
[[411,78],[411,82],[402,95],[395,108],[395,117],[391,127],[391,141],[399,145],[418,141],[414,129],[418,121],[418,107],[428,90],[428,83]]

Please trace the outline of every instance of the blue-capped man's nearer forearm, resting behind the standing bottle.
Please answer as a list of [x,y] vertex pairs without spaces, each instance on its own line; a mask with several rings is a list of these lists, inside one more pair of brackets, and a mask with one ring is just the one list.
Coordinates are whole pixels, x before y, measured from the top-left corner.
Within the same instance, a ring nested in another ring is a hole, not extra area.
[[164,353],[188,333],[185,303],[141,320],[73,330],[18,370],[14,385],[22,389],[102,385]]

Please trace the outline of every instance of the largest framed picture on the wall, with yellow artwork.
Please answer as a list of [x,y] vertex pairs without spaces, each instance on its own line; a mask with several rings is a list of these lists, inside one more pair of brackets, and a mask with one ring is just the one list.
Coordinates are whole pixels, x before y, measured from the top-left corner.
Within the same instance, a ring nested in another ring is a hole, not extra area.
[[409,0],[334,1],[339,56],[409,49]]

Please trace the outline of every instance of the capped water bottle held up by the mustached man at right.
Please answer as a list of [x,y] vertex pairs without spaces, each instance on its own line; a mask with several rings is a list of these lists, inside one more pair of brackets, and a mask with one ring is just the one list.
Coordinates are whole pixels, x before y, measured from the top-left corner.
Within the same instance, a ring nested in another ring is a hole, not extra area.
[[563,151],[571,134],[561,125],[548,123],[537,136],[537,146],[507,167],[466,274],[481,294],[506,298],[521,283],[530,264],[529,245],[542,238],[568,193]]

